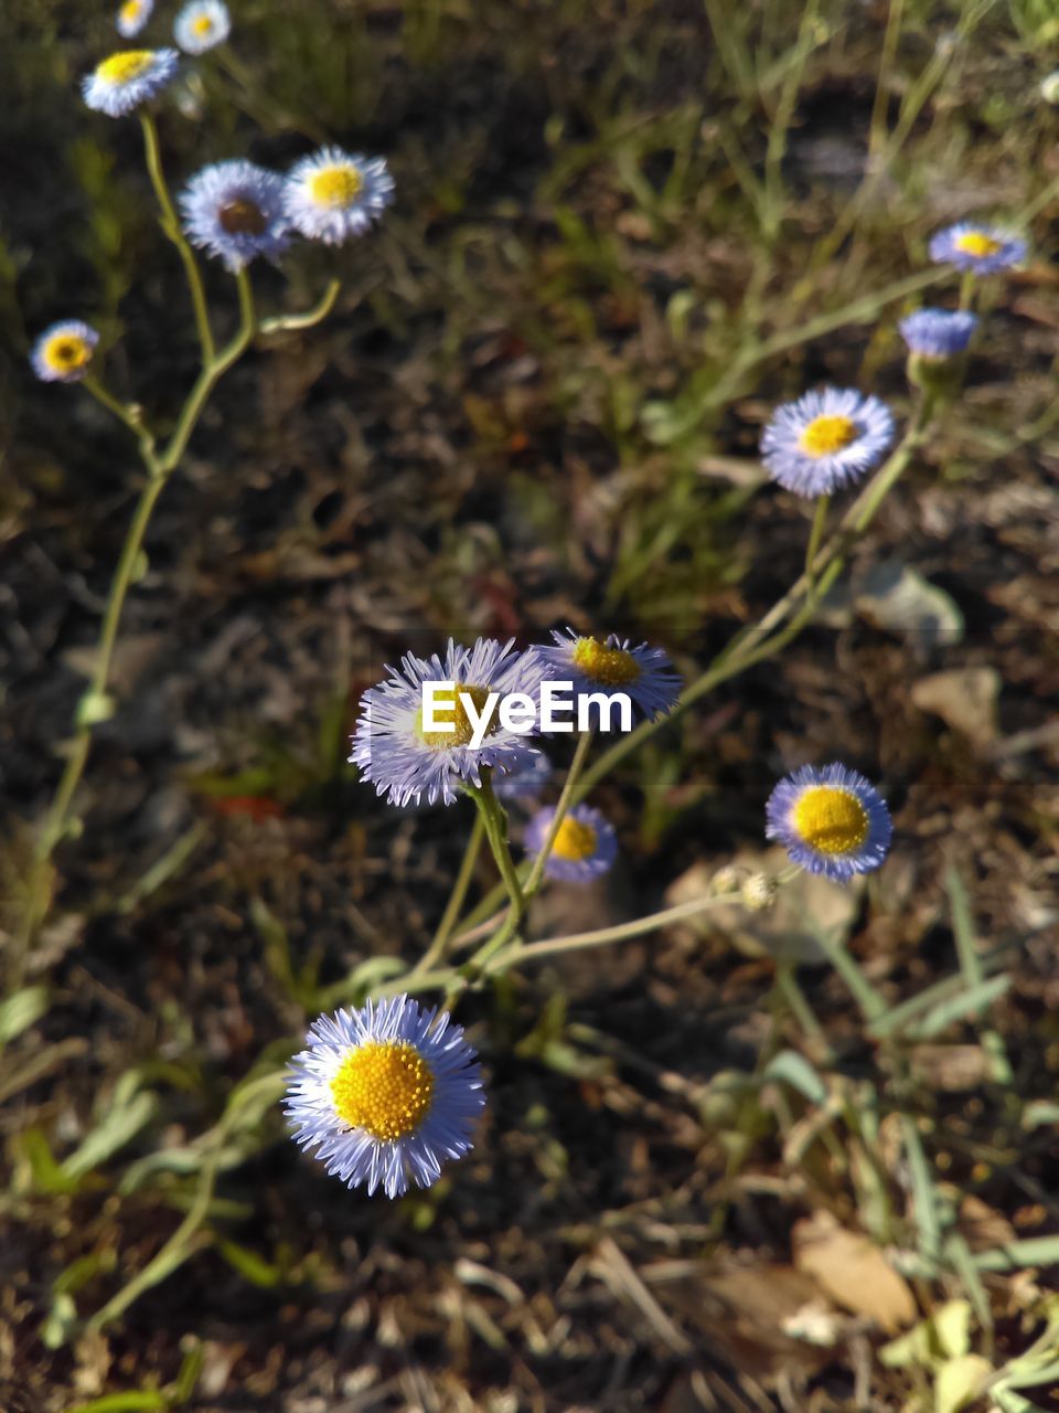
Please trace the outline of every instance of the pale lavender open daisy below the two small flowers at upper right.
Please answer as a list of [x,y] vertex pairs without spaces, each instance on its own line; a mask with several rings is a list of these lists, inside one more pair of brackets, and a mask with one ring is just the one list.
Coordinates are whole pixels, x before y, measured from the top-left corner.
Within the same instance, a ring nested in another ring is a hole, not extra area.
[[784,403],[761,437],[772,480],[799,496],[829,496],[858,480],[894,439],[894,414],[877,397],[825,387]]

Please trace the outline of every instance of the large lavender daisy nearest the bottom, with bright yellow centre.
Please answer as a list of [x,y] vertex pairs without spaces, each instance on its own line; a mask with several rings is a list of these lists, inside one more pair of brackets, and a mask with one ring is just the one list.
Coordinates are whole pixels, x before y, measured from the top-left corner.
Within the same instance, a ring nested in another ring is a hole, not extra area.
[[429,1187],[473,1146],[481,1071],[448,1012],[393,996],[315,1020],[291,1061],[285,1112],[295,1142],[347,1187],[387,1197]]

